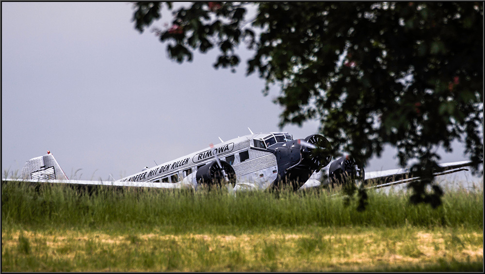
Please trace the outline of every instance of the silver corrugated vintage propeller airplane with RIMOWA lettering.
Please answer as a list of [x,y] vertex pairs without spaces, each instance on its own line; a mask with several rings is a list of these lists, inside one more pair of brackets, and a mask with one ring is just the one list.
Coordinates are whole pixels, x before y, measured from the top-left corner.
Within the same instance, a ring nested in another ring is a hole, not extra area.
[[[248,128],[249,129],[249,128]],[[419,180],[410,169],[364,173],[364,168],[345,155],[331,162],[329,141],[314,134],[293,139],[287,132],[256,133],[234,138],[116,181],[68,180],[52,153],[27,161],[16,182],[68,183],[156,188],[197,189],[201,184],[224,184],[229,190],[256,190],[291,184],[295,190],[332,186],[350,178],[356,183],[380,182],[373,187]],[[220,139],[220,138],[219,138]],[[443,175],[471,166],[470,161],[440,164],[434,174]]]

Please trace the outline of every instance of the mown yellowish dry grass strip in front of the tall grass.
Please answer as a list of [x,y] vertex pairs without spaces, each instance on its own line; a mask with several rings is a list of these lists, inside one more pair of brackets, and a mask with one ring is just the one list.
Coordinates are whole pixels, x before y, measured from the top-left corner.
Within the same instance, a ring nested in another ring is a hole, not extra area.
[[[22,241],[29,252],[22,252]],[[31,268],[20,265],[22,258],[33,261]],[[440,259],[483,260],[483,233],[446,228],[316,228],[300,234],[240,235],[2,231],[2,271],[55,271],[56,263],[66,262],[66,270],[83,272],[358,271]]]

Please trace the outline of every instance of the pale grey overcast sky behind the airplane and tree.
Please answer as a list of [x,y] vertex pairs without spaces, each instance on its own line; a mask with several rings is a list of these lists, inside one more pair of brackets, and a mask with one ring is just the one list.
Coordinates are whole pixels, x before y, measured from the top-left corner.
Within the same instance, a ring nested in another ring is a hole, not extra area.
[[[1,5],[2,171],[49,150],[69,178],[81,168],[77,179],[120,179],[247,127],[279,131],[279,89],[264,97],[264,81],[245,76],[250,52],[235,74],[212,67],[215,53],[170,61],[153,33],[134,29],[131,3]],[[304,138],[318,122],[283,131]],[[439,151],[441,162],[467,159],[458,142],[453,153]],[[388,147],[366,170],[397,168],[395,154]]]

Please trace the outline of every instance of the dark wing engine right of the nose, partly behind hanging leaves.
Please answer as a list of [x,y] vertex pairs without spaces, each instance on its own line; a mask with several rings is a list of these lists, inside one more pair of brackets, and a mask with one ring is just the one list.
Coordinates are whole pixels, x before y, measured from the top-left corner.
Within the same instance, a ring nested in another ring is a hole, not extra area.
[[332,186],[347,182],[364,182],[364,166],[354,157],[346,155],[332,162],[328,169],[328,176]]

